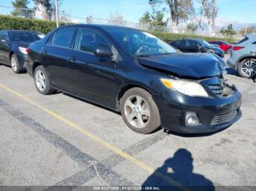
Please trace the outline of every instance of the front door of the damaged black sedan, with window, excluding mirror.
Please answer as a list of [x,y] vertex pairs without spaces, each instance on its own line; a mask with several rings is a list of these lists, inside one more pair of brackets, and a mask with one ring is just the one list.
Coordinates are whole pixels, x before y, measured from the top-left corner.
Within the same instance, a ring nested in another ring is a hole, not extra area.
[[118,63],[111,58],[94,55],[97,47],[113,50],[113,45],[99,31],[80,28],[68,63],[69,79],[77,95],[111,106],[118,90]]

